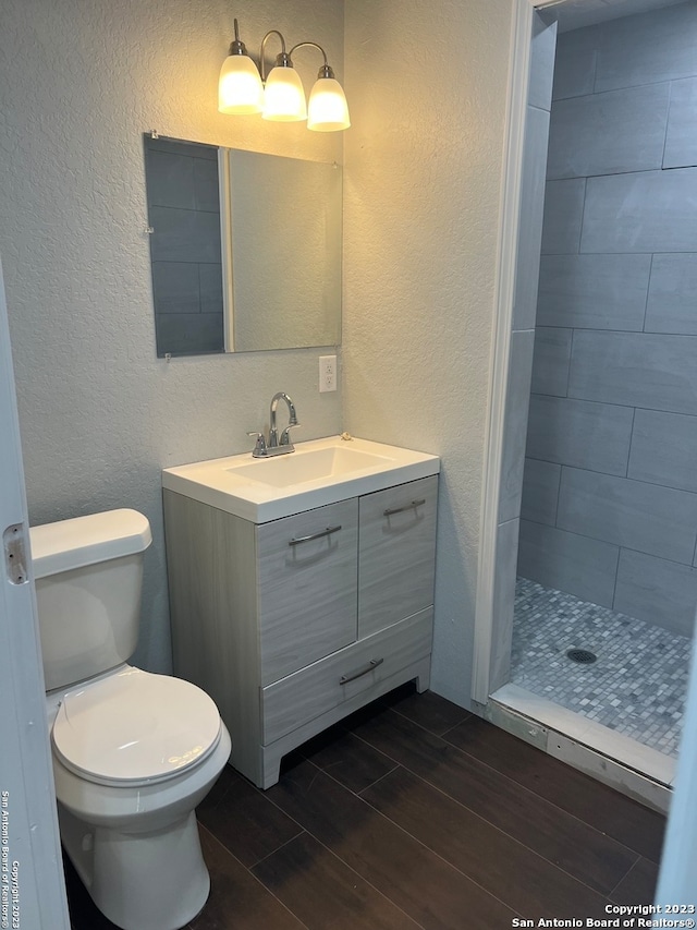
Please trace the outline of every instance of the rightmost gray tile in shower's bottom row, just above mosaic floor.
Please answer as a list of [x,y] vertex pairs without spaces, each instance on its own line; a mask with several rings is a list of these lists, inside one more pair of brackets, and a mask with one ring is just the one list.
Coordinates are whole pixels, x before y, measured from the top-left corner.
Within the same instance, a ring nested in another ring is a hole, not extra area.
[[697,569],[622,549],[614,609],[692,639]]

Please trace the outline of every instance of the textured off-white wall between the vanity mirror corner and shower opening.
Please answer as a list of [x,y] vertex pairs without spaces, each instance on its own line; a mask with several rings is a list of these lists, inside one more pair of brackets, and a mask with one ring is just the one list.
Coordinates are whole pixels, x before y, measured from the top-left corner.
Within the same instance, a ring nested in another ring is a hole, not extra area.
[[344,426],[438,452],[431,687],[470,691],[511,0],[351,0]]

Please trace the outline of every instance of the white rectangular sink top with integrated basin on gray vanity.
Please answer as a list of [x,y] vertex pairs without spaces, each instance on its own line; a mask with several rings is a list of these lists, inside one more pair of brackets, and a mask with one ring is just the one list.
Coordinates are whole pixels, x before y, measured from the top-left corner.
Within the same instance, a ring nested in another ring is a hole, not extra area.
[[272,458],[250,452],[168,468],[162,486],[255,523],[382,491],[440,470],[438,456],[330,436]]

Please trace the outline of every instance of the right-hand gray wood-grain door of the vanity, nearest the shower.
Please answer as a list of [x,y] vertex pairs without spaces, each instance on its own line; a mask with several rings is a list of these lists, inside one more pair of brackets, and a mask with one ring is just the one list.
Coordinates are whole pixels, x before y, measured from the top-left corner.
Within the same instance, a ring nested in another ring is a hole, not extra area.
[[433,603],[438,475],[360,497],[358,638]]

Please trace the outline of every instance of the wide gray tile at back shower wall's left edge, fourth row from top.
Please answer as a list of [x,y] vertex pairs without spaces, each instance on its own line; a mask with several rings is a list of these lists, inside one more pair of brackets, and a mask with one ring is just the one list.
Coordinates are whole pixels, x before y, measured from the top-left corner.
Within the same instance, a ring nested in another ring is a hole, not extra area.
[[650,255],[543,255],[537,325],[640,331],[650,268]]

